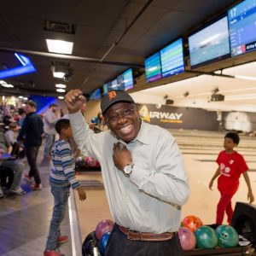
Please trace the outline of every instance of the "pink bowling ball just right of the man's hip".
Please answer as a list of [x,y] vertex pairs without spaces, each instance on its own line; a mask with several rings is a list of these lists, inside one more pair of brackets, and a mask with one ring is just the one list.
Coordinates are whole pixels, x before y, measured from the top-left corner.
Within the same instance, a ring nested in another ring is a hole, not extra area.
[[183,251],[195,249],[196,239],[195,234],[186,227],[181,227],[177,230],[179,241]]

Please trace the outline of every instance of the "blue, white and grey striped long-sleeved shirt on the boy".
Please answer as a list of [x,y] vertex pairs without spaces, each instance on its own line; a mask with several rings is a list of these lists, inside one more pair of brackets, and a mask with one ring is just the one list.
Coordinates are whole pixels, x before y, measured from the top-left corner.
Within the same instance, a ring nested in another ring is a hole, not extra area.
[[67,141],[55,141],[55,146],[52,149],[52,163],[49,182],[63,186],[71,184],[73,189],[80,187],[79,181],[75,177],[72,150]]

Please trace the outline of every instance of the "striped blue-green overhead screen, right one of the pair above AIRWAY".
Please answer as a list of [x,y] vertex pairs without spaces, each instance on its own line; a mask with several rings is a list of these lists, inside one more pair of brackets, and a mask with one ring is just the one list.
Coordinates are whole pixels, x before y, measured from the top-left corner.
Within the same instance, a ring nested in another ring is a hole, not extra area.
[[160,50],[160,62],[163,79],[184,72],[182,38]]

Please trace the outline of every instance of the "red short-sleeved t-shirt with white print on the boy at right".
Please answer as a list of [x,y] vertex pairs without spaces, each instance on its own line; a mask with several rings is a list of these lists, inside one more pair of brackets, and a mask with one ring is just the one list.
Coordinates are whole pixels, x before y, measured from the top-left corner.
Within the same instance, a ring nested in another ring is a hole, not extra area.
[[220,168],[218,177],[218,190],[220,192],[234,195],[239,186],[239,177],[242,172],[247,172],[248,166],[243,156],[236,151],[227,154],[221,151],[216,160]]

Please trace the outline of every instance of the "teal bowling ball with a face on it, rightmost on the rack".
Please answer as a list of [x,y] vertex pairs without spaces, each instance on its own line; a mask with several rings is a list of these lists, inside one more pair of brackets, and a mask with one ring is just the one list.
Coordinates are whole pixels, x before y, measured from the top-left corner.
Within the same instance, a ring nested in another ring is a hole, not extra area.
[[230,225],[219,225],[215,230],[219,247],[236,247],[239,238],[236,230]]

